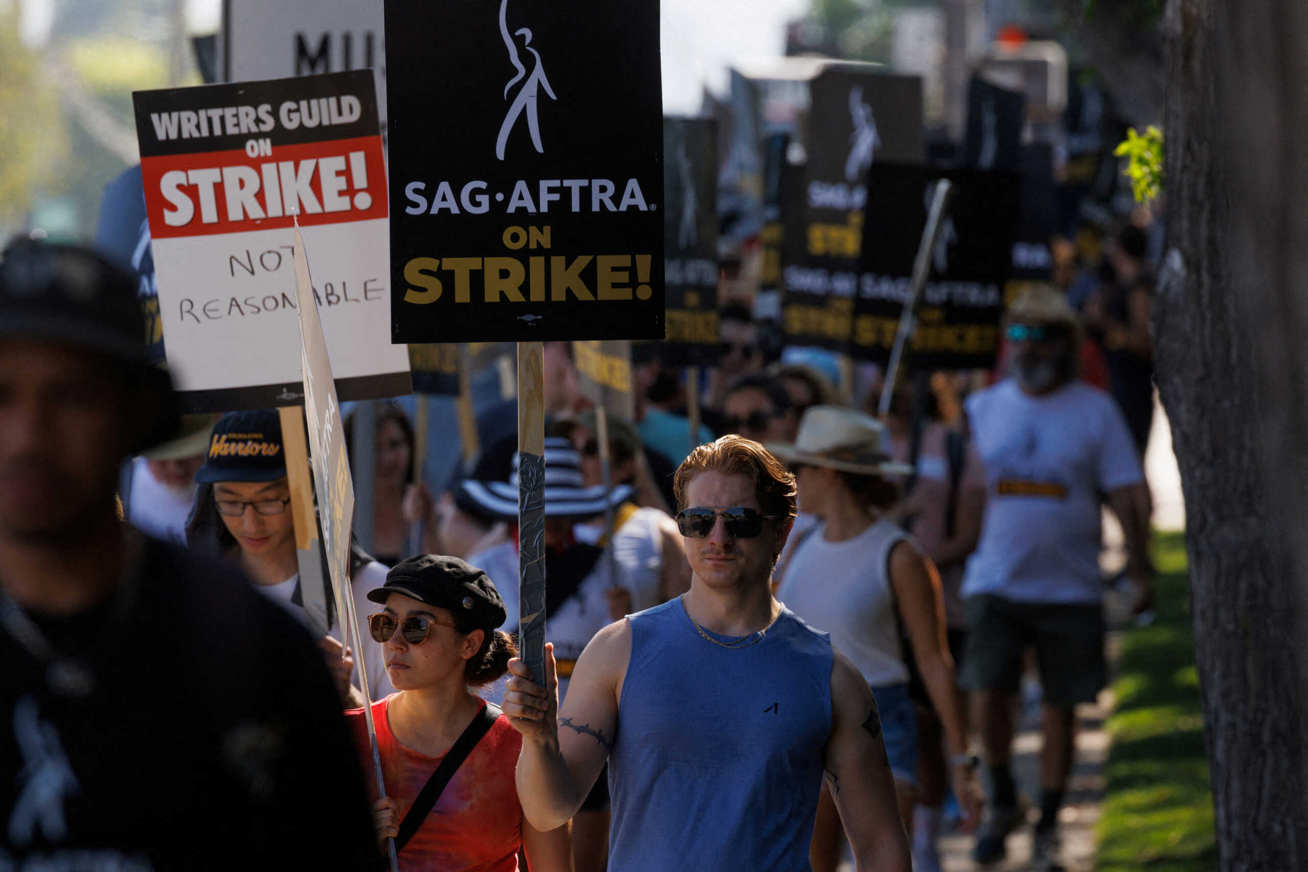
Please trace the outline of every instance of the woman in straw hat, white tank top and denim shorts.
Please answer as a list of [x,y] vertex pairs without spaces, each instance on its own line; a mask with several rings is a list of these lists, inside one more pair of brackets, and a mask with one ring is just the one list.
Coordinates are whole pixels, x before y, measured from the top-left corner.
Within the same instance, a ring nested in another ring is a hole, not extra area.
[[[880,422],[853,409],[814,406],[790,445],[769,445],[795,474],[799,508],[821,522],[794,546],[777,598],[848,652],[876,698],[900,816],[913,826],[918,786],[918,725],[909,691],[917,668],[927,708],[948,736],[954,790],[974,822],[980,793],[968,753],[963,694],[946,644],[939,581],[920,546],[896,524],[892,477],[912,471],[886,452]],[[939,741],[939,735],[937,735]],[[943,793],[943,790],[940,791]],[[835,872],[841,830],[829,791],[814,829],[812,864]],[[917,868],[917,867],[914,867]]]

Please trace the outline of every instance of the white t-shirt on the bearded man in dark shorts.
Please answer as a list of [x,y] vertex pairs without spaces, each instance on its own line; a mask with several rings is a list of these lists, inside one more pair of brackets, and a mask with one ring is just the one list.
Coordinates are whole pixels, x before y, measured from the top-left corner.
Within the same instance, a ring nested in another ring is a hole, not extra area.
[[1101,602],[1103,496],[1144,481],[1117,403],[1080,381],[1031,397],[1008,380],[969,397],[967,410],[986,507],[963,596]]

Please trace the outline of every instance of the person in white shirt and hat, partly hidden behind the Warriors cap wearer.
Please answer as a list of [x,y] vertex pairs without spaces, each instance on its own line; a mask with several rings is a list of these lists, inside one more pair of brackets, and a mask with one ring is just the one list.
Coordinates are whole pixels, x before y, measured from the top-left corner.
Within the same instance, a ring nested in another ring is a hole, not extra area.
[[118,495],[128,524],[157,539],[186,543],[195,474],[204,465],[217,420],[217,415],[187,415],[173,439],[123,466]]

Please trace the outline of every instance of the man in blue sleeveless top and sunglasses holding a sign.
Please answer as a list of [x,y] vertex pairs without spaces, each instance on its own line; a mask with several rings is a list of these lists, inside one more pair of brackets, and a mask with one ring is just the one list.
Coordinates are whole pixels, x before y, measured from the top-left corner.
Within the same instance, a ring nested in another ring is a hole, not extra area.
[[908,872],[872,694],[772,596],[794,477],[723,436],[691,453],[675,490],[691,590],[602,630],[562,711],[548,645],[545,687],[509,664],[527,820],[565,824],[608,762],[612,872],[806,872],[825,776],[858,872]]

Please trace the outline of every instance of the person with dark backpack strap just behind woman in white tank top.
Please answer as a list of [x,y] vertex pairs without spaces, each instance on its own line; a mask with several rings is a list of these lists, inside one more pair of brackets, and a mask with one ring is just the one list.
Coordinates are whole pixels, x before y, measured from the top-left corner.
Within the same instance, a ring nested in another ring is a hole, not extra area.
[[[944,422],[942,409],[959,409],[952,378],[935,373],[912,390],[896,389],[886,420],[895,460],[913,470],[905,495],[895,507],[904,530],[913,534],[935,564],[944,600],[944,631],[955,674],[963,669],[967,617],[963,610],[963,568],[976,550],[985,511],[985,473],[976,448],[957,427]],[[925,391],[918,399],[917,391]],[[921,420],[914,432],[914,402],[921,402]],[[943,804],[948,788],[946,742],[940,719],[931,706],[914,663],[909,663],[909,697],[917,708],[918,805],[913,814],[913,863],[916,872],[938,872]],[[967,712],[964,712],[965,715]]]

